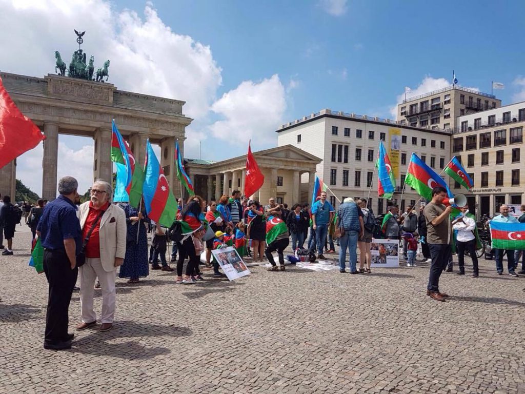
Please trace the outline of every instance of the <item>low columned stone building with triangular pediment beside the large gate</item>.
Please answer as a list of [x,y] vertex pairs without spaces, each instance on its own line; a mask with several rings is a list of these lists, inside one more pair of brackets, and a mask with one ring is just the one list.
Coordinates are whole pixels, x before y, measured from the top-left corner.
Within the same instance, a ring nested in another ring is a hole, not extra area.
[[[267,204],[270,197],[278,203],[303,203],[311,199],[313,177],[321,159],[297,147],[286,145],[253,152],[260,170],[265,176],[262,188],[247,196]],[[231,195],[234,190],[244,194],[246,155],[219,162],[186,159],[185,168],[192,180],[195,193],[207,201]],[[307,181],[301,183],[301,177]]]

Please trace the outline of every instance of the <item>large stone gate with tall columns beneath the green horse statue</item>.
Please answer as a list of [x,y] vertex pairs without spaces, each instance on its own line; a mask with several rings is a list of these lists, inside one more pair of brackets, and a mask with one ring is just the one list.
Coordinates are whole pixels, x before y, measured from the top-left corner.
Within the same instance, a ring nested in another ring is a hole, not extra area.
[[[161,146],[161,166],[174,190],[175,141],[181,150],[185,127],[192,119],[182,113],[184,101],[118,90],[108,83],[48,75],[44,78],[1,74],[3,84],[25,116],[40,127],[44,140],[41,196],[57,195],[58,136],[70,134],[93,138],[93,180],[111,181],[111,121],[139,163],[144,163],[146,139]],[[40,146],[35,149],[42,149]],[[40,168],[35,169],[35,174]],[[0,193],[15,196],[16,160],[0,169]]]

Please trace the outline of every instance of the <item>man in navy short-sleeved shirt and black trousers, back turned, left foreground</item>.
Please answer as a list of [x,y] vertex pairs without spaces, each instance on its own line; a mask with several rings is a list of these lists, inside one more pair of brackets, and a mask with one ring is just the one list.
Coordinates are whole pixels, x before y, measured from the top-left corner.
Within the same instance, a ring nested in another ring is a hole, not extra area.
[[58,181],[60,195],[46,204],[36,227],[44,247],[44,272],[49,283],[44,348],[71,348],[68,334],[69,303],[77,282],[77,255],[82,247],[82,231],[77,217],[78,182],[73,177]]

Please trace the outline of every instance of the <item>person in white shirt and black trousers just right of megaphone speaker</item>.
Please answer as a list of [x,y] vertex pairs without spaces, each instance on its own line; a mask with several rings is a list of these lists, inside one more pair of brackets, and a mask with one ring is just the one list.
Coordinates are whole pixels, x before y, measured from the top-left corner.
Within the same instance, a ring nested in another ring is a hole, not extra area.
[[472,266],[474,271],[472,277],[479,276],[478,257],[476,256],[476,221],[471,216],[467,216],[468,206],[461,208],[461,216],[455,219],[452,224],[454,230],[457,230],[456,245],[459,260],[458,275],[465,275],[465,249],[468,250],[470,258],[472,259]]

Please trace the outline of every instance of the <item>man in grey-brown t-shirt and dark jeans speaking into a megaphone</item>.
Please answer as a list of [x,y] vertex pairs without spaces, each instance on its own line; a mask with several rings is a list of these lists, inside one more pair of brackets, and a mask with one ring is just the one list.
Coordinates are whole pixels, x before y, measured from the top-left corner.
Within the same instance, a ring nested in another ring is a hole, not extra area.
[[427,225],[427,243],[432,257],[432,265],[428,275],[427,295],[437,301],[445,301],[448,297],[439,292],[439,276],[447,266],[452,250],[452,226],[450,224],[451,206],[443,205],[447,198],[447,190],[442,186],[432,189],[432,201],[423,210]]

